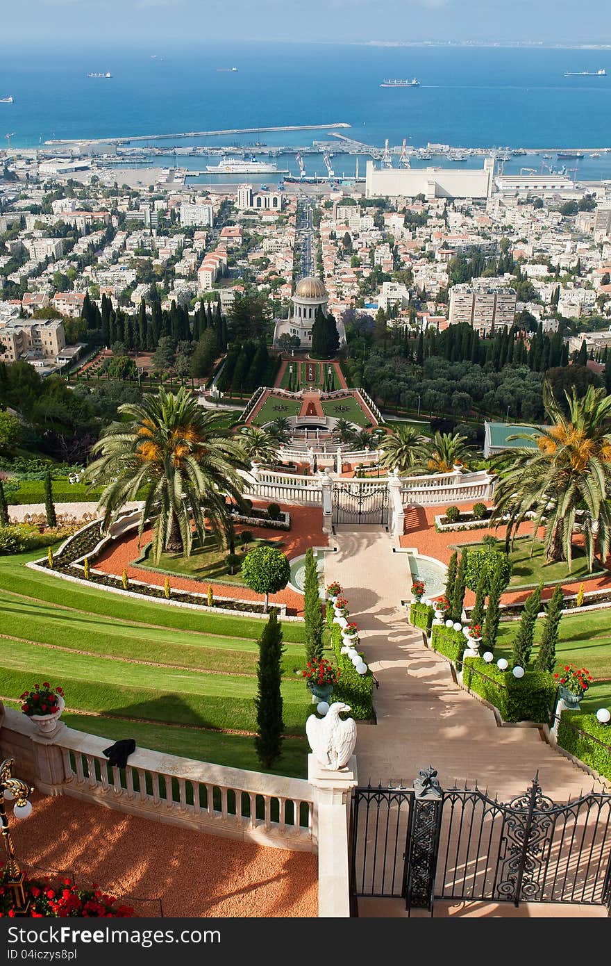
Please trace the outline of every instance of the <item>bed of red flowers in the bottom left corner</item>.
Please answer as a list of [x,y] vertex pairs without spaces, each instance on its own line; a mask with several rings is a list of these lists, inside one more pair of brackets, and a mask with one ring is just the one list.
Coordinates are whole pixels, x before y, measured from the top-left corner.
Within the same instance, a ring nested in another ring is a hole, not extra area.
[[[0,915],[14,918],[13,893],[7,886],[8,880],[7,868],[3,864],[0,875]],[[28,915],[33,919],[131,919],[133,916],[131,906],[120,903],[114,895],[102,892],[95,885],[79,886],[71,879],[49,876],[30,878],[24,874],[23,889],[26,902],[30,901]]]

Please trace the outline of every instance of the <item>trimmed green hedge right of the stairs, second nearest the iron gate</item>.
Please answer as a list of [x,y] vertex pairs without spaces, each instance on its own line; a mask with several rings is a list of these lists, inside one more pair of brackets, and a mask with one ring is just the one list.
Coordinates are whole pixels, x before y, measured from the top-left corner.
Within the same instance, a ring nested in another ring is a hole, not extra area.
[[548,671],[529,670],[518,679],[511,668],[500,670],[483,658],[464,659],[462,683],[498,708],[506,722],[548,723],[558,692]]

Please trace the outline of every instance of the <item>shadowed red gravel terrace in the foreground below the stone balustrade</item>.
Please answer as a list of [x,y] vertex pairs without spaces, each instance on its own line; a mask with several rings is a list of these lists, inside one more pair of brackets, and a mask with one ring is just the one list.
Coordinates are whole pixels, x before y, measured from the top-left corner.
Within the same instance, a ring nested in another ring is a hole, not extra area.
[[[68,796],[33,797],[12,822],[30,874],[71,871],[121,896],[136,916],[316,917],[317,857],[125,815]],[[40,867],[43,872],[31,868]],[[30,868],[28,868],[30,867]],[[142,900],[148,901],[142,901]]]

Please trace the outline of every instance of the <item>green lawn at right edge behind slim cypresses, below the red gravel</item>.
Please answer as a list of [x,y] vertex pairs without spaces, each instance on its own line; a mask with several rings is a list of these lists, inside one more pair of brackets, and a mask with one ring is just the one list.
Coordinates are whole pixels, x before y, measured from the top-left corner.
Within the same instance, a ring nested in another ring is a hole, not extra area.
[[[494,658],[505,657],[511,660],[514,637],[519,623],[501,623]],[[537,648],[542,635],[543,620],[537,621],[535,647],[531,663],[537,657]],[[558,664],[576,664],[587,668],[592,676],[606,680],[595,680],[582,701],[584,711],[596,712],[599,707],[611,708],[611,611],[576,611],[574,615],[565,614],[560,623],[560,640],[556,649]]]

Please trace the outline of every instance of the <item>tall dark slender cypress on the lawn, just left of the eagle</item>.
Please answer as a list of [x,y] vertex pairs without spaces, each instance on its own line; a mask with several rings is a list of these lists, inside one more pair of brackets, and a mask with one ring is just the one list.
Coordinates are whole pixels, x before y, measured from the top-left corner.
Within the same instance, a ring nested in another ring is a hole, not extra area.
[[257,665],[257,737],[255,749],[264,768],[271,768],[282,750],[282,624],[272,609],[259,640]]

